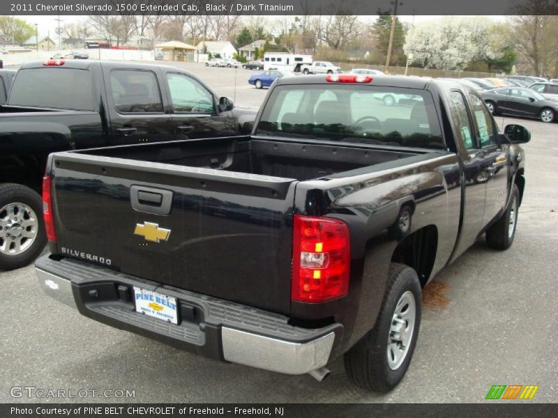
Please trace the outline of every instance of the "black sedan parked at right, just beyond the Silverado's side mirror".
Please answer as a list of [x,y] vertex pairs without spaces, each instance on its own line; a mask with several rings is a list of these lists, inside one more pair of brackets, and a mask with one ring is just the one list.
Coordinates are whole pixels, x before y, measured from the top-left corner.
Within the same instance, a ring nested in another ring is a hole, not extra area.
[[529,88],[495,88],[482,91],[481,96],[492,114],[538,118],[547,123],[556,119],[558,102],[552,102]]

